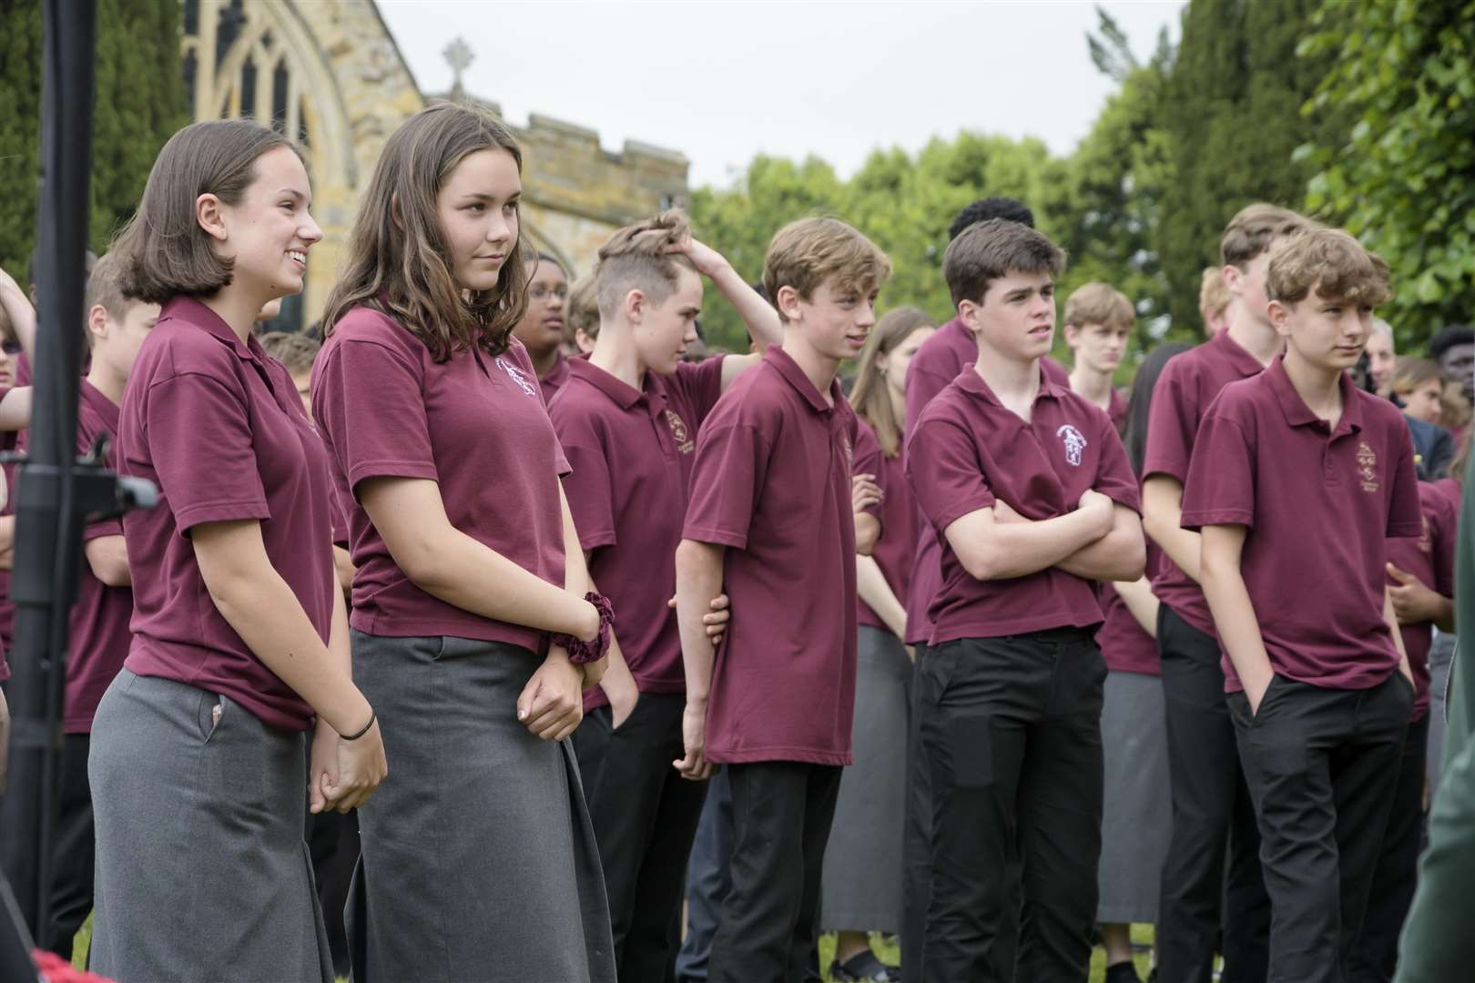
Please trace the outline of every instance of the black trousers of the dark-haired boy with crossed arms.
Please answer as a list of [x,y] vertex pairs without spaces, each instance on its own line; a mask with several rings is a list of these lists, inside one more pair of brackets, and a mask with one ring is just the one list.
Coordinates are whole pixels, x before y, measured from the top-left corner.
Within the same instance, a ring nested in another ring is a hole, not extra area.
[[928,651],[917,684],[932,783],[932,877],[920,979],[1084,983],[1096,920],[1106,663],[1081,629],[969,638]]

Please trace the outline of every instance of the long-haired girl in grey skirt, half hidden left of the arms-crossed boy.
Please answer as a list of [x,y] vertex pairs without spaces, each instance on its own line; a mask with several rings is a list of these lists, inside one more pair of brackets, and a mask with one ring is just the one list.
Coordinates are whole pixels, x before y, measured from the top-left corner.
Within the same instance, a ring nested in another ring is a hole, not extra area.
[[[876,517],[856,513],[856,588],[860,625],[856,662],[856,719],[835,803],[835,824],[820,878],[820,931],[838,931],[832,980],[898,979],[900,967],[872,952],[867,933],[901,931],[901,843],[906,834],[907,694],[912,659],[906,598],[917,542],[917,507],[901,466],[906,379],[912,357],[937,326],[914,307],[898,307],[876,321],[860,352],[851,405],[860,417],[853,469],[881,495]],[[869,535],[867,535],[869,526]],[[888,976],[889,973],[889,976]]]

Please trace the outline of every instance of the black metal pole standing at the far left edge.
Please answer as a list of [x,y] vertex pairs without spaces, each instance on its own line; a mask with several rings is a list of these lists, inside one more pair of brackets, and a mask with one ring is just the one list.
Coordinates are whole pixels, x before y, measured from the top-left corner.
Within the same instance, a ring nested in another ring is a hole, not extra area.
[[[43,265],[30,460],[22,463],[15,488],[16,620],[7,687],[13,730],[9,790],[0,805],[0,859],[21,917],[37,945],[50,948],[49,867],[62,755],[66,618],[81,535],[72,469],[91,200],[96,0],[41,0],[41,7],[46,55],[37,230]],[[28,979],[0,968],[7,980]]]

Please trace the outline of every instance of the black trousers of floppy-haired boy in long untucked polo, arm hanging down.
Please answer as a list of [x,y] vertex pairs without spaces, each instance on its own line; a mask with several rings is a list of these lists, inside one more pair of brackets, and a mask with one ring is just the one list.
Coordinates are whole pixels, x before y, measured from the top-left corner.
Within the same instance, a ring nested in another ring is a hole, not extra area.
[[786,760],[724,768],[733,793],[733,886],[708,979],[805,983],[817,976],[820,872],[841,769]]

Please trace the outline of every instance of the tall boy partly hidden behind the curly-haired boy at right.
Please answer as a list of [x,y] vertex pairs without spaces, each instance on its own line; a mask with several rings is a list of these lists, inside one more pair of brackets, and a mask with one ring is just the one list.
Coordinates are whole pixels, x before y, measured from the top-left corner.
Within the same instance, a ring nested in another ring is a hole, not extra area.
[[1152,399],[1142,506],[1143,528],[1164,551],[1152,591],[1161,601],[1158,650],[1173,796],[1156,933],[1164,983],[1208,979],[1221,914],[1224,979],[1264,979],[1270,902],[1260,874],[1260,837],[1224,706],[1214,620],[1199,588],[1199,536],[1181,528],[1180,513],[1204,413],[1220,389],[1260,374],[1283,346],[1267,312],[1266,271],[1271,252],[1310,225],[1292,211],[1263,203],[1230,220],[1220,240],[1232,298],[1229,329],[1168,363]]

